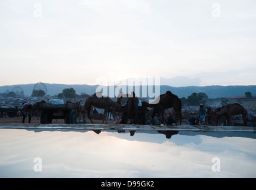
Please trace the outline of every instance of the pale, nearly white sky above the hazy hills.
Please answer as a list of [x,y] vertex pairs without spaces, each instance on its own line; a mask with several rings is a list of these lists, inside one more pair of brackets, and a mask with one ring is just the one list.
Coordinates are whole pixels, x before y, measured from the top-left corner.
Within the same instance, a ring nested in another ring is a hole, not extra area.
[[255,85],[255,10],[246,0],[0,0],[0,85],[102,76]]

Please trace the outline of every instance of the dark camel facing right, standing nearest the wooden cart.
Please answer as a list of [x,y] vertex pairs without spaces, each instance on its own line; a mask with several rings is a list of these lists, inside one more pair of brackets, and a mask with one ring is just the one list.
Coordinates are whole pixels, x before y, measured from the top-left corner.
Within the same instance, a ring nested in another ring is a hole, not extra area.
[[[107,123],[106,116],[107,116],[107,112],[110,109],[110,107],[121,107],[121,100],[122,100],[121,93],[118,96],[118,101],[113,102],[113,100],[111,100],[110,97],[108,97],[108,96],[103,97],[100,92],[97,92],[97,93],[94,93],[93,96],[86,99],[86,102],[84,103],[84,110],[87,110],[88,118],[91,121],[91,118],[90,118],[91,106],[104,109],[103,119],[102,119],[103,124],[104,124],[104,121],[105,121],[105,123]],[[113,113],[113,116],[115,117],[115,113]],[[91,121],[91,123],[93,123],[93,121]]]

